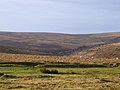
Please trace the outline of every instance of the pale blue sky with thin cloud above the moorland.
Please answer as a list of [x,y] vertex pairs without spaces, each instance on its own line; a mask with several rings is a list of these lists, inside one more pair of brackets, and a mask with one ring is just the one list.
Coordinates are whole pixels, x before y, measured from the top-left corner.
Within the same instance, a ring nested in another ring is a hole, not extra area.
[[0,31],[120,32],[120,0],[0,0]]

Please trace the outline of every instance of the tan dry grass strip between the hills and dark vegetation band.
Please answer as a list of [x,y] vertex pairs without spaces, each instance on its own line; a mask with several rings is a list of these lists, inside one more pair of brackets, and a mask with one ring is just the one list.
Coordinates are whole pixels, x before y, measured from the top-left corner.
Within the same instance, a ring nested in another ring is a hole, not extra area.
[[[63,63],[120,63],[117,59],[106,59],[106,58],[80,58],[77,56],[44,56],[44,55],[26,55],[26,54],[0,54],[0,62],[63,62]],[[30,64],[30,63],[29,63]],[[28,65],[29,65],[28,64]]]

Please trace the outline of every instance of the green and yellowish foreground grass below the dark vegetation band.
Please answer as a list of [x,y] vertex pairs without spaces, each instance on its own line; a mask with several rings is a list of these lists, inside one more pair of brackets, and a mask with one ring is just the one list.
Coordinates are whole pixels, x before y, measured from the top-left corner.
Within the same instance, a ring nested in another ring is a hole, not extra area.
[[51,68],[51,64],[47,69],[57,70],[59,73],[47,74],[40,71],[45,67],[38,65],[4,65],[0,64],[0,73],[4,73],[0,76],[1,90],[119,90],[120,88],[119,67]]

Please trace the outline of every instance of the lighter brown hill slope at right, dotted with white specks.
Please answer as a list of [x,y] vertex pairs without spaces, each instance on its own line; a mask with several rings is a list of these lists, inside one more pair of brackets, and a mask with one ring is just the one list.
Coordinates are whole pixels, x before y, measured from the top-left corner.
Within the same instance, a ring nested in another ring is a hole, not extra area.
[[87,58],[120,59],[120,43],[101,45],[83,52],[78,52],[78,55]]

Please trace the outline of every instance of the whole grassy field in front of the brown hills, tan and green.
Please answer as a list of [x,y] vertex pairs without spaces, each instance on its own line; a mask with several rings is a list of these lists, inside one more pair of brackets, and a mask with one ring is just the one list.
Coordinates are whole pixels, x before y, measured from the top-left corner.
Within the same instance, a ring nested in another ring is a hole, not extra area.
[[119,60],[1,54],[0,73],[0,90],[120,89]]

